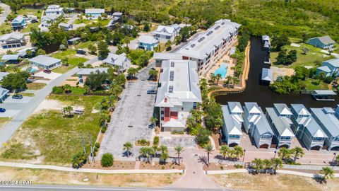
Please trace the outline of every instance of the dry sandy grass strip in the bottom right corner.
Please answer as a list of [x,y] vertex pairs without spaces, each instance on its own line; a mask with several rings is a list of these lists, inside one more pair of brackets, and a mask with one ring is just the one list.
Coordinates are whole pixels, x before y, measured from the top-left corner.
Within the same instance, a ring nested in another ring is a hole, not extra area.
[[209,175],[219,185],[234,190],[337,190],[339,178],[327,180],[326,184],[317,183],[313,178],[297,175],[250,175],[249,173],[231,173],[227,175]]

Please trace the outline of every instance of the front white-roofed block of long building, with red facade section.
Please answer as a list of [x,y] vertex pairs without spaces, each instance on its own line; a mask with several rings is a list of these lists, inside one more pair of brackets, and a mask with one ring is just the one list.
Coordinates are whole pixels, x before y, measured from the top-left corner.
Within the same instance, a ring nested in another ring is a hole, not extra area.
[[184,131],[190,111],[196,110],[196,104],[201,103],[196,62],[165,60],[161,69],[155,100],[155,107],[160,108],[160,129]]

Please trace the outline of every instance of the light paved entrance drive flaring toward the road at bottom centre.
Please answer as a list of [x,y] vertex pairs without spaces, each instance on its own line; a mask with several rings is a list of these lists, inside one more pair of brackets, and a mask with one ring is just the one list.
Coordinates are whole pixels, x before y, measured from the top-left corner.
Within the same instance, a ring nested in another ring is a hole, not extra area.
[[199,156],[206,156],[206,153],[198,149],[184,149],[182,153],[184,158],[182,163],[186,168],[184,176],[169,187],[222,188],[208,178],[203,170],[203,163],[199,162]]

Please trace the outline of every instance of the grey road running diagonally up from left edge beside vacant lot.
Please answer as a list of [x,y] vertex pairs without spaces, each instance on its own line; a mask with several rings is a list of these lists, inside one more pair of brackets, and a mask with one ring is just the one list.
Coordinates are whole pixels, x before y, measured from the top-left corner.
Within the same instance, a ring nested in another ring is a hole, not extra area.
[[[13,117],[11,122],[8,122],[2,129],[0,129],[0,148],[3,146],[6,141],[11,139],[12,135],[16,132],[16,130],[23,124],[23,122],[30,117],[32,112],[37,108],[38,105],[46,98],[49,93],[52,92],[52,88],[54,86],[58,86],[62,81],[66,80],[69,76],[76,74],[79,71],[78,67],[67,71],[66,73],[59,76],[57,79],[51,81],[51,83],[47,84],[41,91],[35,94],[35,96],[29,100],[28,104],[23,106],[23,109]],[[11,99],[11,98],[8,98]]]

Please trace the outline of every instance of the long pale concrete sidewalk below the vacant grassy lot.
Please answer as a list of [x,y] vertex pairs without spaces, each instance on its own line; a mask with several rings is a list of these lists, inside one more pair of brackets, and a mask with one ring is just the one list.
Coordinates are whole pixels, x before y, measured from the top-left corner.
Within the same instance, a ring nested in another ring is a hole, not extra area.
[[167,174],[167,173],[183,173],[184,170],[146,170],[146,169],[129,169],[129,170],[105,170],[105,169],[94,169],[94,168],[69,168],[63,166],[52,166],[52,165],[36,165],[28,163],[10,163],[0,162],[0,166],[8,166],[15,168],[34,168],[34,169],[48,169],[48,170],[60,170],[72,173],[102,173],[102,174]]

